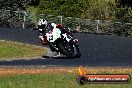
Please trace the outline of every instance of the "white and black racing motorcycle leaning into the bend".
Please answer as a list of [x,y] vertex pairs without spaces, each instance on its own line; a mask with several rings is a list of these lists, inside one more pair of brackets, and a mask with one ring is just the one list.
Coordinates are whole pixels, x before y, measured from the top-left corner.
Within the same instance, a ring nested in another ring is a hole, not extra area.
[[60,52],[69,58],[75,56],[75,41],[73,36],[64,33],[60,28],[54,28],[46,33],[47,42],[52,51]]

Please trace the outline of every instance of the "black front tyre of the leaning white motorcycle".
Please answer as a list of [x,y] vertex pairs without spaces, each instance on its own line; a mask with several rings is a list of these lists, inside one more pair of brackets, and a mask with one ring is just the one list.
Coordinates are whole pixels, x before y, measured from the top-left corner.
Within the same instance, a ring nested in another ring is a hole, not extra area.
[[72,42],[63,43],[60,42],[59,44],[60,51],[69,58],[74,57],[74,47]]

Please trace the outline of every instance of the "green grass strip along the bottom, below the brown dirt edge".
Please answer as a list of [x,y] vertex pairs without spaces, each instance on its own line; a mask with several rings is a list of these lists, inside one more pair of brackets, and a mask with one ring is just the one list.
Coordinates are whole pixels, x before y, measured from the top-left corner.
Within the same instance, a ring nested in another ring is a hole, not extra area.
[[[43,71],[46,70],[47,69],[43,69]],[[29,73],[29,74],[3,75],[0,76],[0,88],[132,88],[131,85],[132,82],[130,82],[129,84],[79,85],[76,82],[76,77],[78,75],[77,73],[75,73],[75,70],[72,70],[72,72],[68,72],[68,71],[61,72],[60,70],[61,69],[53,70],[53,71],[49,71],[48,73],[43,72],[43,73],[35,73],[35,74]],[[102,72],[105,71],[106,70]],[[110,69],[109,72],[111,73]],[[132,76],[132,72],[129,72],[129,74]]]

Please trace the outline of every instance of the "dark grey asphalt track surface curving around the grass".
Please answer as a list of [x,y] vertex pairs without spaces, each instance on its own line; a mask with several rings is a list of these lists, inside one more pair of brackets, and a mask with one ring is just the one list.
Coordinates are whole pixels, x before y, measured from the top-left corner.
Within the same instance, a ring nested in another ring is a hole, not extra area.
[[[100,66],[131,67],[132,37],[75,33],[80,41],[81,58],[35,58],[0,61],[0,66]],[[0,28],[0,39],[41,46],[38,32],[29,29]]]

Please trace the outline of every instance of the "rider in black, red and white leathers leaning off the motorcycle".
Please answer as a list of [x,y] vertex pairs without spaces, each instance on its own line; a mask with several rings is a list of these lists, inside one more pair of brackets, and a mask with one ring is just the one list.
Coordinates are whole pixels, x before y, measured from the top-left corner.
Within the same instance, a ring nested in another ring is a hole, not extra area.
[[[63,33],[68,33],[71,36],[73,36],[72,33],[70,32],[70,29],[68,27],[65,27],[63,24],[48,23],[45,19],[39,19],[39,21],[38,21],[39,38],[43,45],[47,44],[47,40],[46,40],[47,38],[45,36],[46,32],[52,30],[54,28],[54,26],[56,26],[56,28],[59,28]],[[76,47],[76,51],[77,51],[76,56],[80,57],[81,53],[80,53],[80,50],[78,47],[79,46],[78,39],[74,39],[74,42],[75,42],[75,47]],[[55,52],[55,50],[52,46],[49,45],[49,47],[52,52]],[[60,56],[60,52],[57,52],[57,53],[58,53],[57,56]]]

